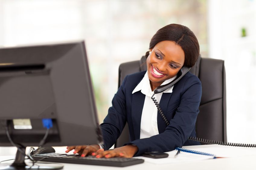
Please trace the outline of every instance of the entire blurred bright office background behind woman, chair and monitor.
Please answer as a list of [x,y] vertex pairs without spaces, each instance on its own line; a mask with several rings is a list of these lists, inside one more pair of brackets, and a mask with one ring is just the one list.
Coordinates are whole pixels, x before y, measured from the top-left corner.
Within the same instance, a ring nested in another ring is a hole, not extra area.
[[85,40],[100,122],[120,63],[170,23],[195,33],[202,57],[225,60],[228,141],[256,143],[255,0],[0,0],[0,46]]

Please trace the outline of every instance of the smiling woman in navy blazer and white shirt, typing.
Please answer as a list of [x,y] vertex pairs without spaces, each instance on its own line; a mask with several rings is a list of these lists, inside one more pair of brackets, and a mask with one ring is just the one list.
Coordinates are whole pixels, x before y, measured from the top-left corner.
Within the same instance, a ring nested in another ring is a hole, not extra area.
[[[199,144],[187,140],[189,136],[196,136],[195,123],[202,94],[201,82],[196,76],[187,73],[174,86],[155,94],[169,122],[167,127],[151,99],[155,88],[175,79],[183,66],[194,66],[198,56],[199,44],[189,28],[170,24],[159,29],[146,53],[147,71],[126,76],[112,100],[112,107],[101,124],[104,146],[70,146],[66,152],[75,149],[74,153],[81,156],[133,157],[144,152],[167,152],[175,147]],[[131,142],[108,150],[126,122]]]

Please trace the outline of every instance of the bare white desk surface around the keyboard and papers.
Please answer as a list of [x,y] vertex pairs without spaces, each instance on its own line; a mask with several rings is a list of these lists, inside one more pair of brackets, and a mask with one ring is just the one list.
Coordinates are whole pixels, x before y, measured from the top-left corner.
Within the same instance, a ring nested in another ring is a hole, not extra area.
[[[187,146],[183,147],[186,149],[200,148],[200,147],[219,147],[219,145],[201,145],[201,146]],[[64,153],[66,147],[54,147],[57,153]],[[255,150],[256,148],[246,148],[248,150]],[[14,158],[13,155],[16,154],[16,149],[14,147],[0,147],[0,161],[6,159]],[[7,156],[9,155],[9,156]],[[235,158],[218,158],[218,159],[208,159],[197,162],[190,163],[172,163],[165,165],[157,165],[149,162],[144,162],[138,165],[132,165],[127,167],[110,167],[110,166],[96,166],[96,165],[80,165],[80,164],[63,164],[64,170],[115,170],[115,169],[126,169],[126,170],[160,170],[160,169],[172,169],[172,170],[248,170],[256,169],[256,155],[255,156],[242,156]]]

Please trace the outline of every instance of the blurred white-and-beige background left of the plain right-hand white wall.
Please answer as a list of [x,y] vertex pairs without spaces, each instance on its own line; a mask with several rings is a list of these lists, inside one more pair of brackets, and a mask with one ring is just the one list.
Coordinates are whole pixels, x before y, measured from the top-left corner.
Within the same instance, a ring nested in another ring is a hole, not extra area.
[[0,46],[85,39],[100,122],[120,63],[139,60],[170,23],[188,26],[207,56],[206,0],[0,0]]

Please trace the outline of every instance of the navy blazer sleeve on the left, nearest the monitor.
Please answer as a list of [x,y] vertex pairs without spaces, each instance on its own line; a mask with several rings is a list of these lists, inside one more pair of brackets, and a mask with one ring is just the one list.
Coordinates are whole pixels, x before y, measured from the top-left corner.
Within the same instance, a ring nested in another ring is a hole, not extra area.
[[114,95],[112,106],[108,109],[108,114],[100,125],[105,150],[108,150],[115,144],[126,124],[126,98],[124,93],[126,80],[127,76]]

